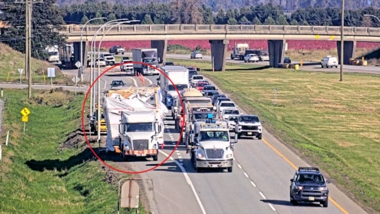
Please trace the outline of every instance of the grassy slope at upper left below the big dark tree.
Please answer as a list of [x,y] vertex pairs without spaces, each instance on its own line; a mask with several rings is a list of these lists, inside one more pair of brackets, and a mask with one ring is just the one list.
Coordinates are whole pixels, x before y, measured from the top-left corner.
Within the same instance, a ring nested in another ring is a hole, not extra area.
[[[25,55],[13,50],[11,47],[0,43],[0,82],[20,82],[18,69],[25,68]],[[53,84],[74,85],[72,77],[66,77],[54,66],[47,61],[32,58],[32,83],[50,84],[50,78],[47,77],[47,68],[55,67],[56,77],[53,78]],[[25,77],[25,70],[21,74],[21,83],[28,83]]]

